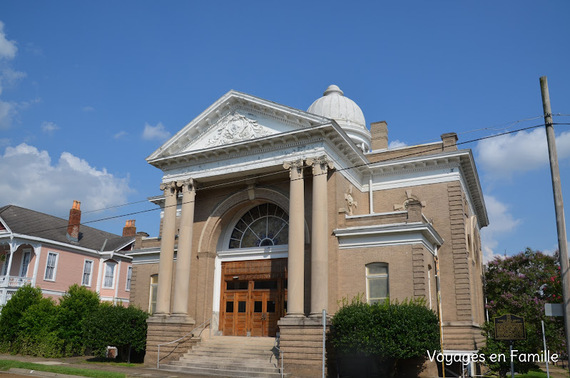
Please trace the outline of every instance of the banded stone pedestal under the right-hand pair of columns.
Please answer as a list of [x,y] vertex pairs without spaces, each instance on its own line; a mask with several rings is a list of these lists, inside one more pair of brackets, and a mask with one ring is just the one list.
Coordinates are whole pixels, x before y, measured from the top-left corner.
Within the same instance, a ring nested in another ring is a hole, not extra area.
[[[322,317],[283,317],[278,326],[285,374],[322,377]],[[330,319],[327,319],[326,335],[325,376],[336,377],[334,349],[329,342]]]

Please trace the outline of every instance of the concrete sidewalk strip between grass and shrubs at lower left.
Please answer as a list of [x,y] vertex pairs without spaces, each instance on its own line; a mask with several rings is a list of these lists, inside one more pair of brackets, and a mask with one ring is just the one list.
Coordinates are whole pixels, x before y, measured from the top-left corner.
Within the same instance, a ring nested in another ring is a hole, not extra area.
[[[20,362],[33,362],[42,363],[50,362],[50,364],[62,364],[67,367],[76,367],[78,369],[91,369],[91,370],[101,370],[105,372],[118,372],[124,373],[133,377],[144,377],[144,378],[212,378],[210,375],[196,375],[196,374],[185,374],[180,372],[168,372],[167,370],[157,370],[143,367],[123,367],[123,366],[110,366],[106,364],[98,363],[88,363],[88,359],[94,358],[93,356],[79,356],[79,357],[63,357],[63,358],[44,358],[44,357],[31,357],[31,356],[13,356],[11,354],[1,354],[0,359],[7,359],[12,361]],[[84,377],[83,377],[84,378]]]

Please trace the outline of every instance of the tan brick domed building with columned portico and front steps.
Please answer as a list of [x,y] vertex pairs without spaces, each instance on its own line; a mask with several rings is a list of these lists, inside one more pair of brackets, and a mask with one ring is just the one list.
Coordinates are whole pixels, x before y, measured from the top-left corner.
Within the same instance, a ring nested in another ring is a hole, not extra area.
[[161,231],[139,233],[128,255],[131,303],[152,314],[149,366],[215,374],[188,349],[210,342],[201,348],[215,356],[215,345],[250,342],[278,346],[275,374],[283,359],[292,377],[320,377],[322,312],[362,293],[424,298],[441,312],[444,353],[483,346],[489,219],[456,134],[389,149],[387,122],[369,129],[338,86],[307,111],[232,90],[146,160],[163,171],[149,198]]

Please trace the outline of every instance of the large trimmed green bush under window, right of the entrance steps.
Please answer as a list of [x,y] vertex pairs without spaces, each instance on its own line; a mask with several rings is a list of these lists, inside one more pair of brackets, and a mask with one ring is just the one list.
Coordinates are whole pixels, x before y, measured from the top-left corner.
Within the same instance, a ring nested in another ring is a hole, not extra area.
[[437,315],[424,299],[376,304],[362,302],[360,296],[350,304],[343,300],[332,328],[338,352],[375,356],[392,376],[399,360],[425,358],[427,350],[439,350]]

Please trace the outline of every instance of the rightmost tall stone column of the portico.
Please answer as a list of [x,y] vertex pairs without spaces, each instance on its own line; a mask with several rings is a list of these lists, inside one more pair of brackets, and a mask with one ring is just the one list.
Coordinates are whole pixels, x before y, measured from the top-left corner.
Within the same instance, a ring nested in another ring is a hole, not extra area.
[[334,166],[327,156],[307,159],[312,166],[311,317],[328,312],[327,171]]

